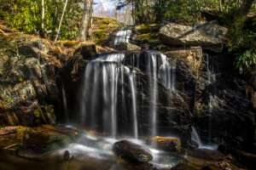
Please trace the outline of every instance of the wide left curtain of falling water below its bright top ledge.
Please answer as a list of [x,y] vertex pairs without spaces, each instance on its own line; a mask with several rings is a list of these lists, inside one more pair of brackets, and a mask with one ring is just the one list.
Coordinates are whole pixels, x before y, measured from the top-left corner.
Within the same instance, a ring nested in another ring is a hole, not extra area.
[[[102,110],[104,133],[115,137],[117,134],[117,83],[119,65],[111,62],[92,61],[86,65],[82,99],[82,121],[88,119],[90,127],[97,127],[98,112]],[[100,94],[100,92],[102,92]],[[110,122],[110,123],[109,123]],[[88,126],[88,124],[87,124]]]

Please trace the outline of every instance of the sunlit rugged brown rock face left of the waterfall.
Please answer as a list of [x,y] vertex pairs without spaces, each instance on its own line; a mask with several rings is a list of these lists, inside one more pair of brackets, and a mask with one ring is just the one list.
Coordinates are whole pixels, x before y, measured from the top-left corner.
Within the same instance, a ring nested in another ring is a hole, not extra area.
[[41,40],[0,42],[0,125],[54,123],[58,88],[56,68]]

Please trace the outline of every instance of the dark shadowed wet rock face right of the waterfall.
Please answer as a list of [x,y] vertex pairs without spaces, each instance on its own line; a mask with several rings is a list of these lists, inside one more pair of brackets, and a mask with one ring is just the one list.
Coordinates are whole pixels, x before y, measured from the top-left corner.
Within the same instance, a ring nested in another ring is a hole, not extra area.
[[231,59],[224,54],[204,59],[195,87],[195,124],[205,142],[224,140],[247,148],[254,140],[255,113],[245,93],[247,82],[236,75]]

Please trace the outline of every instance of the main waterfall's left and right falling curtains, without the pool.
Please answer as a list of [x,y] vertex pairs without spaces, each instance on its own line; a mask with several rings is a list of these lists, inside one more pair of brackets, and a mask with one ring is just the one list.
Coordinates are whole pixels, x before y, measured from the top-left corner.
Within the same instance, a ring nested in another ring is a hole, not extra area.
[[115,138],[119,136],[118,129],[122,128],[118,126],[129,125],[124,124],[130,123],[125,120],[131,121],[131,127],[125,130],[138,139],[137,67],[148,77],[148,119],[151,135],[156,136],[159,86],[161,83],[166,90],[175,91],[176,64],[157,51],[145,51],[129,59],[131,62],[126,62],[124,53],[101,54],[86,65],[80,103],[81,122],[85,127]]

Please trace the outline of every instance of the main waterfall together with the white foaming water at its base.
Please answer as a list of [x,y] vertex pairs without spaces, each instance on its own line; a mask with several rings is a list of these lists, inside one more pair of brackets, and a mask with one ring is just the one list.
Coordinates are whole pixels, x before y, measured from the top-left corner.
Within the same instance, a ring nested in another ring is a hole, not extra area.
[[[149,78],[147,89],[151,104],[148,110],[151,128],[149,136],[154,137],[158,135],[156,104],[159,82],[167,90],[175,91],[176,65],[160,52],[146,51],[145,53],[145,74]],[[151,163],[154,166],[173,167],[177,164],[179,159],[176,156],[158,150],[154,144],[145,144],[144,136],[139,133],[136,69],[141,69],[140,62],[142,61],[137,56],[130,66],[125,65],[125,54],[113,53],[102,54],[86,65],[80,100],[80,122],[90,131],[101,131],[102,137],[84,134],[78,142],[69,144],[67,148],[61,150],[60,154],[68,150],[74,157],[83,155],[96,160],[115,160],[112,145],[120,139],[127,139],[151,150],[154,157]],[[128,94],[125,94],[127,93],[125,89],[128,89]],[[131,108],[127,108],[128,105]],[[119,133],[117,110],[119,106],[122,111],[127,109],[130,111],[128,116],[131,118],[131,125],[125,127],[127,132],[131,132],[129,134]]]

